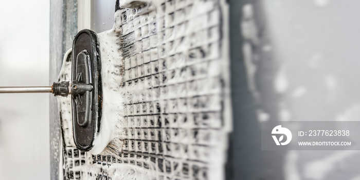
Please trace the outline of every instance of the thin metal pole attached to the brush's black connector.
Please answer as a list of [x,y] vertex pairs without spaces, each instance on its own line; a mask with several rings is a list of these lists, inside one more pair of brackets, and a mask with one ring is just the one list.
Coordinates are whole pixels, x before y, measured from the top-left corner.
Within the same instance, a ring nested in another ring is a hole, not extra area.
[[0,93],[52,93],[51,86],[0,87]]

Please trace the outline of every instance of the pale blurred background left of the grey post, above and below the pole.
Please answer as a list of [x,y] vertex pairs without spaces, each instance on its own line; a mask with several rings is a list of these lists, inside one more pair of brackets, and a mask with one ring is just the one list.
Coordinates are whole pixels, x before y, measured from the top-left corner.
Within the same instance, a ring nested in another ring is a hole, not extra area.
[[[0,86],[48,86],[49,1],[0,6]],[[49,94],[0,94],[0,178],[49,179]]]

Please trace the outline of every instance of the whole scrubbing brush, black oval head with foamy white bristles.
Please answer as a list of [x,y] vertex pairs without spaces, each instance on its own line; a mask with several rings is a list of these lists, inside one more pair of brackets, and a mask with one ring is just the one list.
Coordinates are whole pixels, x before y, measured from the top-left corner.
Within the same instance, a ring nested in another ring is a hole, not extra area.
[[58,82],[75,80],[93,87],[92,91],[79,97],[58,97],[66,146],[115,157],[122,153],[124,143],[121,139],[126,132],[122,130],[125,91],[122,89],[121,37],[117,22],[113,29],[99,34],[82,30],[75,36],[73,48],[66,52]]

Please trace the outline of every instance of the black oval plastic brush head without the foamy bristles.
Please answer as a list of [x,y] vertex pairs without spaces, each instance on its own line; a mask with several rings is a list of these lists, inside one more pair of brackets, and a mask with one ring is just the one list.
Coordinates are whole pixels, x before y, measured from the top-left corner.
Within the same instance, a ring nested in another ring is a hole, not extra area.
[[95,134],[100,130],[102,85],[99,46],[96,33],[84,29],[75,36],[71,55],[74,142],[83,151],[93,148]]

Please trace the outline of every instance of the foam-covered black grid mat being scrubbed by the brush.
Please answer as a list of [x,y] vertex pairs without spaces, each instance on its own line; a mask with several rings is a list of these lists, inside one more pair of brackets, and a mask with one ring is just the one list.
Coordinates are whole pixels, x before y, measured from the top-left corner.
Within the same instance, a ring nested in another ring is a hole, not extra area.
[[124,167],[151,179],[212,179],[224,168],[222,1],[159,2],[115,17],[124,41],[124,153],[91,155],[68,143],[66,179],[116,179]]

